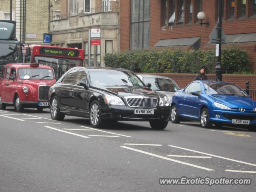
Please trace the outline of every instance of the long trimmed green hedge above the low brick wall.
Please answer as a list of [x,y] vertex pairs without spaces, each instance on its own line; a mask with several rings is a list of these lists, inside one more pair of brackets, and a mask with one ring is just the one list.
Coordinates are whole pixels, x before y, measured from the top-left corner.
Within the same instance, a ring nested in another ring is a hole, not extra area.
[[[215,73],[215,50],[132,50],[106,54],[106,67],[126,68],[133,72],[198,73],[205,66],[206,73]],[[250,73],[248,51],[239,48],[222,49],[222,73]]]

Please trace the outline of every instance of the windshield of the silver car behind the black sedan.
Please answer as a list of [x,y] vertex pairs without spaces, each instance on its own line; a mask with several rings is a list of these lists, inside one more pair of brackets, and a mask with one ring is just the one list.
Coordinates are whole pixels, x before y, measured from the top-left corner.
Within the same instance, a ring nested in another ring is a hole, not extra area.
[[179,88],[171,79],[165,78],[143,78],[144,84],[151,84],[152,90],[175,92]]

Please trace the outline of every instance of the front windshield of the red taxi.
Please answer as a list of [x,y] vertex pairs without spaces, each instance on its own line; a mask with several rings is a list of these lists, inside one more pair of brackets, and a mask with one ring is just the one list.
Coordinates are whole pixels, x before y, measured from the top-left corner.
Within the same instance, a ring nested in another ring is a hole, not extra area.
[[49,79],[54,78],[53,71],[50,69],[42,68],[20,68],[18,70],[20,79]]

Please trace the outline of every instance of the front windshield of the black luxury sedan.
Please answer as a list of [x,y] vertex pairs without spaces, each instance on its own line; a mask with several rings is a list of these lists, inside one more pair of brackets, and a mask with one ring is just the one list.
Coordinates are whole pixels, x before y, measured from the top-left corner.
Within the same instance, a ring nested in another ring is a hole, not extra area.
[[94,85],[145,86],[132,72],[119,70],[90,69],[90,80]]

